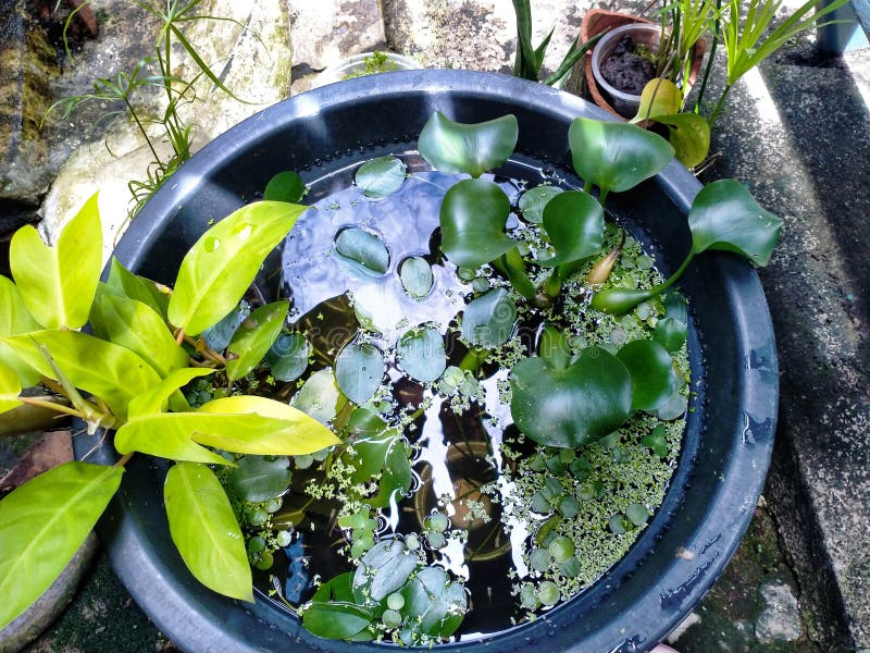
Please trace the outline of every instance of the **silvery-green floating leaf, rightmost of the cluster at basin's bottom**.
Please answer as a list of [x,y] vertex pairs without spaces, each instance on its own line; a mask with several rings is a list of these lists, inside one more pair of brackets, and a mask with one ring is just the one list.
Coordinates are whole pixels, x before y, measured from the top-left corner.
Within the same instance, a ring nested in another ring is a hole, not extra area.
[[417,621],[415,629],[427,634],[449,637],[459,628],[468,609],[462,584],[450,582],[450,577],[438,567],[421,569],[401,594],[402,612]]

